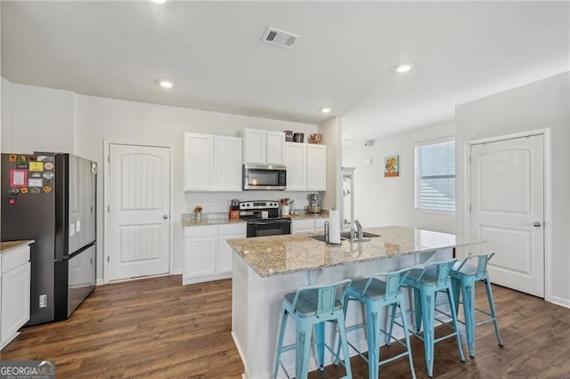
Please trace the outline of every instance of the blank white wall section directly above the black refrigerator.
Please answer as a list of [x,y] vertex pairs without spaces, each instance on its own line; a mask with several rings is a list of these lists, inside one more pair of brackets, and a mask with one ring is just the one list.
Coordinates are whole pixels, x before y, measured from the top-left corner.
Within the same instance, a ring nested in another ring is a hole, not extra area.
[[34,150],[73,150],[73,93],[12,85],[5,80],[4,86],[10,87],[5,92],[9,107],[4,107],[10,110],[2,151],[31,154]]

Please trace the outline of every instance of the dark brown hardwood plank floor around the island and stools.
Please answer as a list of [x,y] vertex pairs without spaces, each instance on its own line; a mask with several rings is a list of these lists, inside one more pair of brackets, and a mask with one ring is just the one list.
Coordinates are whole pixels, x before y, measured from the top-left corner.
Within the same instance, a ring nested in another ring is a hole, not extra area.
[[[181,283],[171,276],[98,286],[70,319],[22,329],[0,358],[55,360],[58,378],[239,378],[243,365],[230,335],[231,280]],[[497,345],[492,325],[478,327],[476,358],[461,363],[453,340],[438,343],[434,375],[570,377],[570,310],[499,286],[493,291],[505,347]],[[485,305],[482,287],[476,299]],[[383,348],[382,356],[395,348]],[[416,375],[428,377],[415,338],[412,351]],[[351,362],[354,378],[366,378],[363,360]],[[342,368],[330,366],[309,377],[342,375]],[[410,377],[407,360],[381,367],[380,376]]]

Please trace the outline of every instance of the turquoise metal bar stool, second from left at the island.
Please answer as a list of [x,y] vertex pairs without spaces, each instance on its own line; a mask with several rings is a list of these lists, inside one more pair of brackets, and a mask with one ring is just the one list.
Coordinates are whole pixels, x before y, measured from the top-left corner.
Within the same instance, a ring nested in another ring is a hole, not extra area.
[[[394,272],[381,272],[373,275],[371,278],[364,278],[354,281],[348,289],[348,300],[355,300],[364,304],[364,310],[366,312],[366,323],[346,327],[346,333],[361,329],[363,327],[366,328],[368,359],[364,357],[362,352],[356,349],[352,343],[349,342],[348,345],[357,351],[358,355],[368,363],[368,377],[370,379],[378,379],[380,366],[387,364],[388,362],[392,362],[395,359],[401,359],[406,356],[410,361],[411,376],[413,378],[416,377],[416,372],[413,368],[413,360],[411,359],[408,324],[404,312],[400,311],[400,315],[402,316],[401,326],[403,327],[405,343],[394,338],[391,333],[388,335],[387,332],[382,330],[380,326],[380,314],[383,307],[392,307],[392,318],[394,319],[396,308],[400,308],[402,306],[401,304],[403,302],[403,294],[400,291],[400,286],[402,286],[403,279],[408,276],[408,273],[409,269]],[[403,351],[402,353],[389,359],[380,359],[379,343],[381,334],[387,337],[387,345],[390,343],[389,339],[392,338],[395,340],[395,342],[400,343],[403,347],[405,347],[406,351]],[[340,344],[338,345],[337,352],[340,352]]]

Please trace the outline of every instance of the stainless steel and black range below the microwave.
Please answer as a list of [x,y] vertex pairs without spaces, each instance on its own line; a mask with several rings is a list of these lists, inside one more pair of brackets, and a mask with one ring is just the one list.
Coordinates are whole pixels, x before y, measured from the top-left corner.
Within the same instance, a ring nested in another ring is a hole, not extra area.
[[291,234],[291,219],[279,216],[277,201],[242,201],[240,218],[248,222],[248,238]]

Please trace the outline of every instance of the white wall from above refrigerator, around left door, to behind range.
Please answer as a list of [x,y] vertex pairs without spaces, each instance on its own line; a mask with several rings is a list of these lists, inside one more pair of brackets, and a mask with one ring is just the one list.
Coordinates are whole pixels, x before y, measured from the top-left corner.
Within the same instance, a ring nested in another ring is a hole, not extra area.
[[[181,214],[191,213],[194,206],[204,212],[227,212],[229,200],[277,200],[294,198],[296,206],[308,205],[308,193],[257,191],[183,192],[183,133],[208,133],[238,136],[243,128],[293,130],[309,135],[316,125],[300,124],[257,117],[244,117],[147,104],[117,101],[67,91],[12,84],[3,79],[3,92],[10,93],[10,106],[3,103],[3,151],[65,151],[98,162],[97,278],[103,278],[103,140],[139,144],[165,144],[172,147],[175,198],[175,271],[182,270]],[[6,88],[4,88],[6,86]],[[5,111],[5,117],[4,117]],[[5,138],[5,140],[4,140]],[[5,142],[5,143],[4,143]]]

